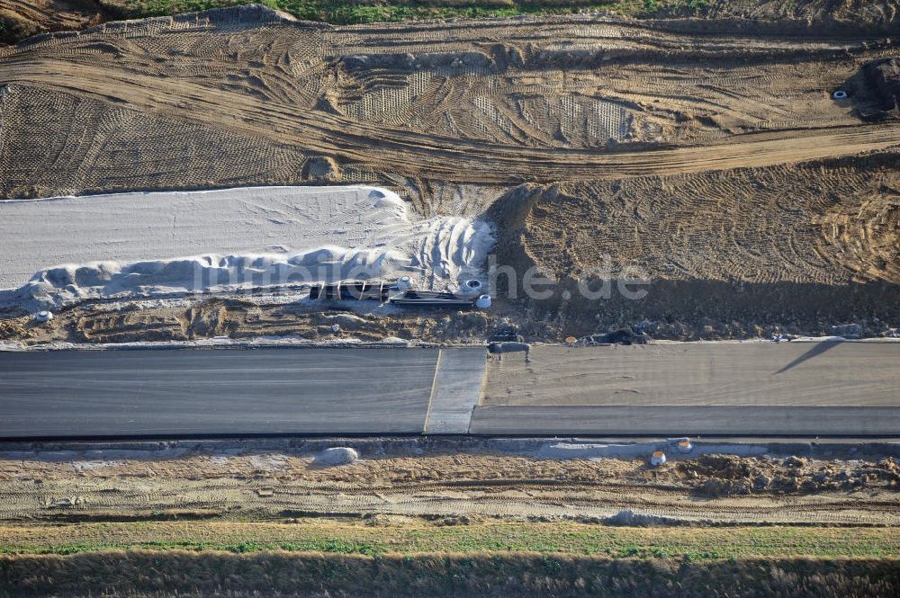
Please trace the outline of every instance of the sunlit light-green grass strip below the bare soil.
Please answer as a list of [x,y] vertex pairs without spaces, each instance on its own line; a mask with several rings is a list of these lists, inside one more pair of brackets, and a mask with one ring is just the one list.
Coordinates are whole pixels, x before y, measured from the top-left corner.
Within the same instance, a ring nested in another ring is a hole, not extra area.
[[682,561],[736,558],[898,558],[900,534],[878,527],[615,527],[577,522],[366,524],[90,522],[0,525],[0,554],[72,555],[109,549],[269,550],[383,556],[421,553],[560,553]]

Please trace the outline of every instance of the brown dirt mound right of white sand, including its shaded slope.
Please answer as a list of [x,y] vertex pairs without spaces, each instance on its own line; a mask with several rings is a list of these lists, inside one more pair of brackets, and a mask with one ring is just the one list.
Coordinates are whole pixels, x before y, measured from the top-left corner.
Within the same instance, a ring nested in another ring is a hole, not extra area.
[[[538,288],[550,290],[547,297],[527,304],[534,317],[559,322],[562,335],[617,326],[680,340],[779,331],[893,335],[888,328],[900,320],[897,164],[891,151],[523,185],[491,208],[505,236],[497,260],[520,272],[520,298],[529,268],[555,281]],[[625,287],[642,293],[635,300],[604,283],[610,277],[648,283]]]

